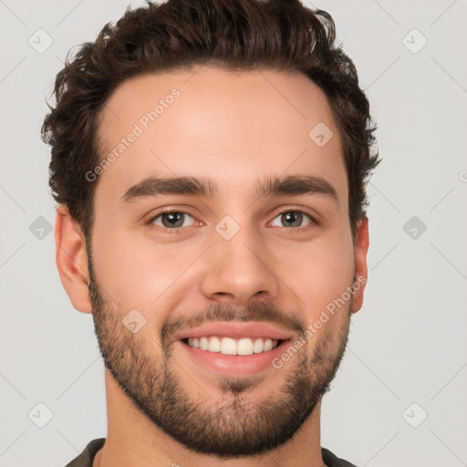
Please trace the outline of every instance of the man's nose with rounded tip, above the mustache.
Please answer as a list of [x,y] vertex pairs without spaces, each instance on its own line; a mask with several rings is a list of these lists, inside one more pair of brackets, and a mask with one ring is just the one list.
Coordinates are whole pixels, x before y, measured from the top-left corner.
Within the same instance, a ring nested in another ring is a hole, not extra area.
[[230,240],[217,238],[204,257],[202,294],[229,305],[273,300],[280,286],[273,262],[274,256],[254,233],[241,229]]

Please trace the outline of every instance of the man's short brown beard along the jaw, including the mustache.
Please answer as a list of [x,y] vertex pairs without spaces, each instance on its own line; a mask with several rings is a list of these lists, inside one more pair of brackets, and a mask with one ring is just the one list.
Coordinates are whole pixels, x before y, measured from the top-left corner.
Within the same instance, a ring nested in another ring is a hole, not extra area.
[[[249,391],[266,378],[259,375],[219,377],[221,395],[213,398],[205,393],[202,398],[192,390],[201,387],[202,381],[187,384],[180,378],[187,378],[183,367],[188,362],[178,362],[172,356],[174,333],[206,321],[240,319],[280,323],[298,337],[305,332],[306,323],[298,315],[286,314],[265,302],[254,302],[242,309],[214,304],[201,313],[168,317],[158,341],[150,332],[132,334],[123,326],[122,318],[128,310],[114,306],[111,298],[104,297],[90,252],[88,271],[94,327],[105,367],[150,422],[190,451],[229,459],[254,456],[283,445],[329,390],[345,353],[352,298],[348,307],[339,312],[346,314],[340,327],[323,327],[312,337],[317,339],[313,351],[305,345],[283,368],[271,369],[283,371],[285,378],[267,374],[280,383],[271,385],[264,400],[249,398]],[[159,349],[159,353],[154,349]]]

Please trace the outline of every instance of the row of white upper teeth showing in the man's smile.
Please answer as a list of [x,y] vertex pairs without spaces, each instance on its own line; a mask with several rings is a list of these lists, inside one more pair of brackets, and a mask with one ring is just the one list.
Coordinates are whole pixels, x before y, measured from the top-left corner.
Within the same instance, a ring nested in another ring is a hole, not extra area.
[[277,340],[261,337],[242,337],[236,340],[232,337],[189,337],[188,345],[210,352],[220,352],[223,355],[252,355],[276,348]]

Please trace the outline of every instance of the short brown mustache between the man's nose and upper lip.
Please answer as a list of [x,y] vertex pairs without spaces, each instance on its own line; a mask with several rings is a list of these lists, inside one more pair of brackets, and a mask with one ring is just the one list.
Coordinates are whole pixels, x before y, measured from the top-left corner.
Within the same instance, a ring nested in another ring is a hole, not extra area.
[[201,312],[189,312],[186,315],[177,314],[168,317],[161,327],[162,346],[170,345],[171,337],[183,329],[198,327],[206,322],[233,320],[275,323],[299,335],[306,331],[306,322],[302,317],[295,312],[285,312],[271,303],[252,302],[244,307],[215,303],[207,306]]

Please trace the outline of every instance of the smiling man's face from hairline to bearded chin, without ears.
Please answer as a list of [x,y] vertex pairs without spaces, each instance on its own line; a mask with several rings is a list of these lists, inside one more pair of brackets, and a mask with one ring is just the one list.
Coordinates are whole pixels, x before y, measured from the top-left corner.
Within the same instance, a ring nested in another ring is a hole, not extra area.
[[[323,123],[324,145],[308,136]],[[118,156],[95,182],[88,258],[99,346],[130,400],[193,451],[283,444],[334,377],[356,275],[337,131],[298,73],[172,71],[107,102],[102,157]]]

